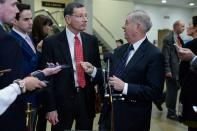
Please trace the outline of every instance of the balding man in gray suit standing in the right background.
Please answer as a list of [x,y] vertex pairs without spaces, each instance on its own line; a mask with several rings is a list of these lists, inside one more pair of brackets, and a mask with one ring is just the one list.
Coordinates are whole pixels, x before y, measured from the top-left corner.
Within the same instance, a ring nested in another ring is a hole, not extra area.
[[179,63],[180,59],[176,46],[182,47],[183,41],[180,34],[184,31],[185,24],[177,20],[173,24],[171,31],[163,40],[162,53],[165,58],[165,76],[166,76],[166,107],[168,109],[167,118],[177,120],[176,101],[179,86]]

